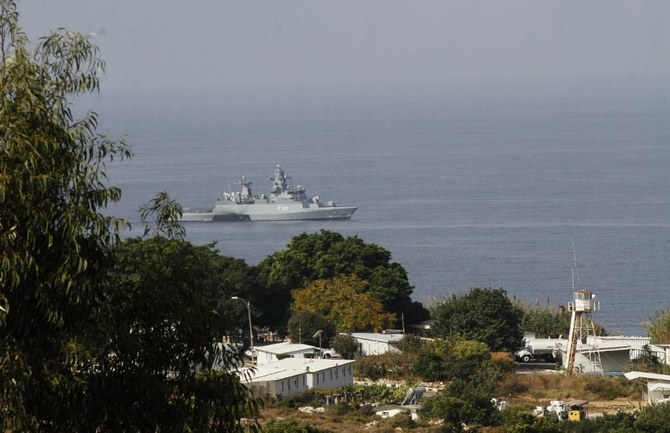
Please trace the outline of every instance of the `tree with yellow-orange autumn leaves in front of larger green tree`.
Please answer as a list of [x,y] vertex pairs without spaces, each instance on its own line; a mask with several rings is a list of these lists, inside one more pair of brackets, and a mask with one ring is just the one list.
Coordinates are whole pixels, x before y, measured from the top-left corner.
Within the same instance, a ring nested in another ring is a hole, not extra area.
[[293,311],[320,314],[338,332],[381,331],[393,323],[393,315],[363,292],[366,282],[355,275],[316,280],[293,292]]

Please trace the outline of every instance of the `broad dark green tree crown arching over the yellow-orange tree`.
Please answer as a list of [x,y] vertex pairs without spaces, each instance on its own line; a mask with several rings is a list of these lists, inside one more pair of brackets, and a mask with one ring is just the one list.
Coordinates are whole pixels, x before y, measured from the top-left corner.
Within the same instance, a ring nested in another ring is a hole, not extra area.
[[389,251],[365,243],[357,236],[345,238],[322,230],[294,237],[286,249],[258,265],[262,289],[255,296],[266,301],[265,324],[283,326],[286,323],[294,289],[312,281],[351,274],[367,281],[363,291],[381,302],[386,311],[394,313],[396,320],[399,321],[403,312],[407,322],[424,320],[427,311],[411,300],[413,287],[406,271],[390,260]]

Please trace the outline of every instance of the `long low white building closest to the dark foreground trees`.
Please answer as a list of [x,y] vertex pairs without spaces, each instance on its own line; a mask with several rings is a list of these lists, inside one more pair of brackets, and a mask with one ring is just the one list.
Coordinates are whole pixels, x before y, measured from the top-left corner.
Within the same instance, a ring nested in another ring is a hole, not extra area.
[[354,361],[285,358],[243,372],[242,381],[255,396],[302,394],[309,389],[335,389],[354,383]]

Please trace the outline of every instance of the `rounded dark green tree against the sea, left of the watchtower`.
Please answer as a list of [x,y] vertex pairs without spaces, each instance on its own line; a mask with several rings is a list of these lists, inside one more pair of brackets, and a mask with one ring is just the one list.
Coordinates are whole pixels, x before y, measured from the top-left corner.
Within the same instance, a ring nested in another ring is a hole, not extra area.
[[522,346],[522,311],[503,289],[474,288],[433,306],[435,337],[462,336],[481,341],[494,352],[515,352]]

